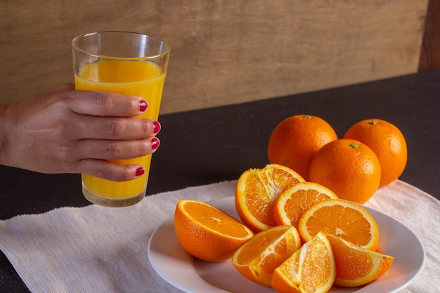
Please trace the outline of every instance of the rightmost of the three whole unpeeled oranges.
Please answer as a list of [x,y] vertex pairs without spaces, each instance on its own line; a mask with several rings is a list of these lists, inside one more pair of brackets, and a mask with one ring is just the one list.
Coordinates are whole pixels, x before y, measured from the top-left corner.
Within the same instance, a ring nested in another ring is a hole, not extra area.
[[362,120],[351,126],[344,138],[365,143],[375,152],[382,170],[380,186],[392,183],[403,173],[408,150],[405,137],[394,124],[382,119]]

